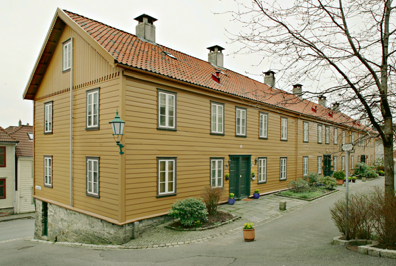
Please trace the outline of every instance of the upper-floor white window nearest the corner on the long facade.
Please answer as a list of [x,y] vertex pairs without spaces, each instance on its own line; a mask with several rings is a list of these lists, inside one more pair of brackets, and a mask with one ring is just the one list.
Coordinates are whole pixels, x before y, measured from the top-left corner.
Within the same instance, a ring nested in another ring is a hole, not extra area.
[[158,89],[158,129],[176,129],[176,93]]

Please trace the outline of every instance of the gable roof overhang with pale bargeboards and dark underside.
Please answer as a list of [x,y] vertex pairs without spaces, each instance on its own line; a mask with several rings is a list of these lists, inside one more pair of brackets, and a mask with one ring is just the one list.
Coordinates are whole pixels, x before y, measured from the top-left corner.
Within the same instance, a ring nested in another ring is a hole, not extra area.
[[72,20],[62,9],[57,8],[55,16],[52,19],[51,26],[48,29],[45,41],[42,44],[40,54],[36,60],[33,71],[30,74],[29,81],[23,92],[24,100],[33,100],[36,92],[42,82],[44,73],[48,67],[49,61],[58,44],[64,26],[71,27],[77,34],[88,42],[109,64],[115,66],[114,57],[111,56],[96,40],[85,32],[74,20]]

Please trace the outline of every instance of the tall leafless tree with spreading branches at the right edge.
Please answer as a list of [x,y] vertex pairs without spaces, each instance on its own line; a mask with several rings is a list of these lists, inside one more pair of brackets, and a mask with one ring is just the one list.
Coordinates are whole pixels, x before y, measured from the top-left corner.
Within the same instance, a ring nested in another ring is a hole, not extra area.
[[243,31],[231,33],[232,41],[244,44],[237,53],[263,54],[263,60],[278,68],[288,82],[326,82],[309,97],[326,95],[356,121],[375,128],[384,146],[385,188],[394,192],[392,2],[236,0],[238,11],[229,13],[244,26]]

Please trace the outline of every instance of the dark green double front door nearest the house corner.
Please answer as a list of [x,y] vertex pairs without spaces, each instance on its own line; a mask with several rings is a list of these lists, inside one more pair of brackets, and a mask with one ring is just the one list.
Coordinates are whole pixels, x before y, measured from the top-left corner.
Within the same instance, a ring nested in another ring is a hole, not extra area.
[[250,195],[250,155],[230,155],[229,193],[236,198]]

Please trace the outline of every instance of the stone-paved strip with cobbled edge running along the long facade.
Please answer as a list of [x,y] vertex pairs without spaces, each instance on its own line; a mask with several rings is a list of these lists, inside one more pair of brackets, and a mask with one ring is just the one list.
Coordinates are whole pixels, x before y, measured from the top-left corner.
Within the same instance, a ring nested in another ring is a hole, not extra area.
[[[353,190],[354,186],[362,184],[360,180],[356,183],[351,183],[350,188]],[[339,190],[333,194],[339,194],[345,192],[344,186],[338,186]],[[209,230],[200,231],[176,231],[165,228],[165,225],[158,225],[155,228],[144,232],[140,238],[133,239],[124,245],[117,246],[106,246],[106,245],[92,245],[82,243],[69,243],[69,242],[47,242],[43,240],[32,240],[34,242],[46,243],[46,244],[57,244],[67,246],[85,246],[92,248],[115,248],[115,249],[153,249],[153,248],[167,248],[175,246],[186,246],[196,243],[204,243],[213,239],[223,238],[230,234],[241,233],[241,229],[244,223],[253,222],[255,226],[268,223],[269,221],[276,219],[285,213],[298,210],[307,205],[312,205],[317,201],[326,200],[327,197],[333,195],[329,194],[321,197],[312,202],[286,198],[277,196],[275,194],[269,194],[260,196],[259,199],[251,201],[236,201],[234,205],[220,205],[219,210],[229,212],[242,218],[236,220],[227,225],[222,225]],[[287,202],[287,210],[279,210],[279,202]]]

